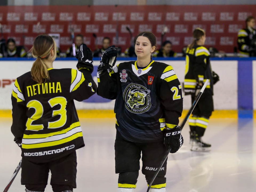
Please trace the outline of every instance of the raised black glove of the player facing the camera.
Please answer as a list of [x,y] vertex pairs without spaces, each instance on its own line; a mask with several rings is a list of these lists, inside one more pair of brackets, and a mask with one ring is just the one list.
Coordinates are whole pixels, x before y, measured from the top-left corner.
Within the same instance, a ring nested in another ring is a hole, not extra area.
[[115,62],[117,61],[117,55],[117,47],[109,47],[108,49],[106,49],[101,56],[101,62],[99,63],[97,71],[107,70],[108,72],[111,72],[113,70],[112,66],[114,66]]

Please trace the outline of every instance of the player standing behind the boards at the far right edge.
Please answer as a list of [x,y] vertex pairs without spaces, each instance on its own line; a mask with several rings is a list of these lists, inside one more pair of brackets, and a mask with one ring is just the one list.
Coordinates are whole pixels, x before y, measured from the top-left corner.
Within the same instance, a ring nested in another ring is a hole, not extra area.
[[240,57],[256,57],[256,29],[255,18],[246,19],[246,28],[238,32],[237,45]]

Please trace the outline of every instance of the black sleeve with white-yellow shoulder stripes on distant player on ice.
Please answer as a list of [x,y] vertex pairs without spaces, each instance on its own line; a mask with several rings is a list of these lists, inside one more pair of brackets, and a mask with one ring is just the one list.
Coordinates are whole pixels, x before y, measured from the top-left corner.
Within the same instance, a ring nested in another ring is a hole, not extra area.
[[209,58],[210,52],[205,47],[197,47],[195,50],[195,64],[193,74],[197,82],[203,82],[206,70],[206,60]]

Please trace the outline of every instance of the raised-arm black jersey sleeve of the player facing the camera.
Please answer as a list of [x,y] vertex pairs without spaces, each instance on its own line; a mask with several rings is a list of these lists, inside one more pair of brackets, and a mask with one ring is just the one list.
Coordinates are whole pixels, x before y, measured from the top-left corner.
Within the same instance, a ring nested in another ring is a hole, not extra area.
[[[114,67],[113,67],[114,70]],[[97,73],[98,89],[97,94],[106,99],[117,98],[117,73],[108,73],[107,71],[102,74]]]

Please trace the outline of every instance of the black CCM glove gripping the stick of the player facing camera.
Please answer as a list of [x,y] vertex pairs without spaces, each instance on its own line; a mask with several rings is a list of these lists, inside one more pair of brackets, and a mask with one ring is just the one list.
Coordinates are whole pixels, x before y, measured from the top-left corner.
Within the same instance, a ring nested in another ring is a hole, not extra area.
[[176,125],[173,129],[165,130],[164,144],[166,149],[171,146],[170,153],[176,153],[183,144],[183,137],[181,135],[181,128]]

